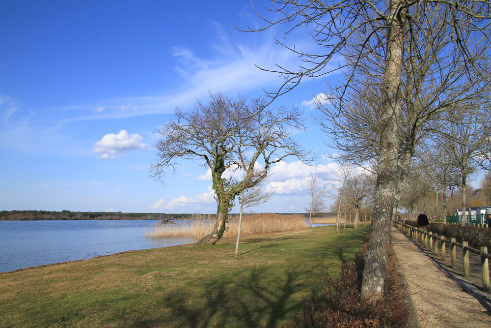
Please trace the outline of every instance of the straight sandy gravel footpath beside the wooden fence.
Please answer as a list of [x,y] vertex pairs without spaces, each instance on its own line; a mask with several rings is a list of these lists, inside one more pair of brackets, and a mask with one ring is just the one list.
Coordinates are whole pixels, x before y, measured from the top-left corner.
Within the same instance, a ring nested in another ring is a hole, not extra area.
[[391,242],[408,281],[419,327],[491,327],[491,313],[396,228],[392,228]]

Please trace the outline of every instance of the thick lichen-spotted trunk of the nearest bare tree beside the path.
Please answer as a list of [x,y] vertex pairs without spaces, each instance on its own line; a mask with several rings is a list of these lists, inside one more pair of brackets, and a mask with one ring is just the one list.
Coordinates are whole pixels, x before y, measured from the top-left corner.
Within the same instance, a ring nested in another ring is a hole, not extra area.
[[379,300],[383,296],[394,193],[398,179],[398,124],[401,117],[400,84],[403,51],[401,5],[402,0],[392,1],[387,22],[387,56],[382,83],[382,124],[377,186],[361,285],[361,295],[369,302]]

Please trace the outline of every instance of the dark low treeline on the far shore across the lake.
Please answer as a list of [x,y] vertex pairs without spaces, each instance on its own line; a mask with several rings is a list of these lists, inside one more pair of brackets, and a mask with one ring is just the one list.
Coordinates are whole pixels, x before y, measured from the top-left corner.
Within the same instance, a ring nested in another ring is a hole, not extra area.
[[123,213],[123,212],[61,212],[49,210],[2,210],[0,220],[164,220],[186,218],[191,214]]

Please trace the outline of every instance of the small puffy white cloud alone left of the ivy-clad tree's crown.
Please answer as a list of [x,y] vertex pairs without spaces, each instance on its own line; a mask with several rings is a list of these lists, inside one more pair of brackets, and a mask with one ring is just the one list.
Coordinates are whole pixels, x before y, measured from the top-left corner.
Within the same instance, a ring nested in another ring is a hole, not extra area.
[[102,153],[99,158],[114,159],[117,155],[134,150],[148,149],[142,143],[143,138],[137,133],[128,134],[126,130],[119,131],[118,134],[109,133],[97,141],[92,148],[92,152]]

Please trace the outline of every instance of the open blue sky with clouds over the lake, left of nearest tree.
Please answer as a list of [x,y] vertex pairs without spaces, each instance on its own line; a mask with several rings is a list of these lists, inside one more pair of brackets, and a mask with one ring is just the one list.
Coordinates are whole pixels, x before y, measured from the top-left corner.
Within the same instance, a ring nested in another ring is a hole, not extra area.
[[[209,91],[276,90],[277,74],[255,65],[299,63],[274,44],[281,30],[245,33],[231,22],[261,24],[249,1],[1,1],[0,209],[215,212],[211,181],[196,163],[182,162],[165,185],[149,178],[154,129]],[[312,47],[308,35],[288,42]],[[310,118],[326,79],[305,81],[274,105],[299,106]],[[332,153],[327,136],[308,125],[299,138],[319,161],[273,167],[265,187],[276,194],[253,210],[304,211],[310,172],[326,185],[335,179],[323,156]]]

